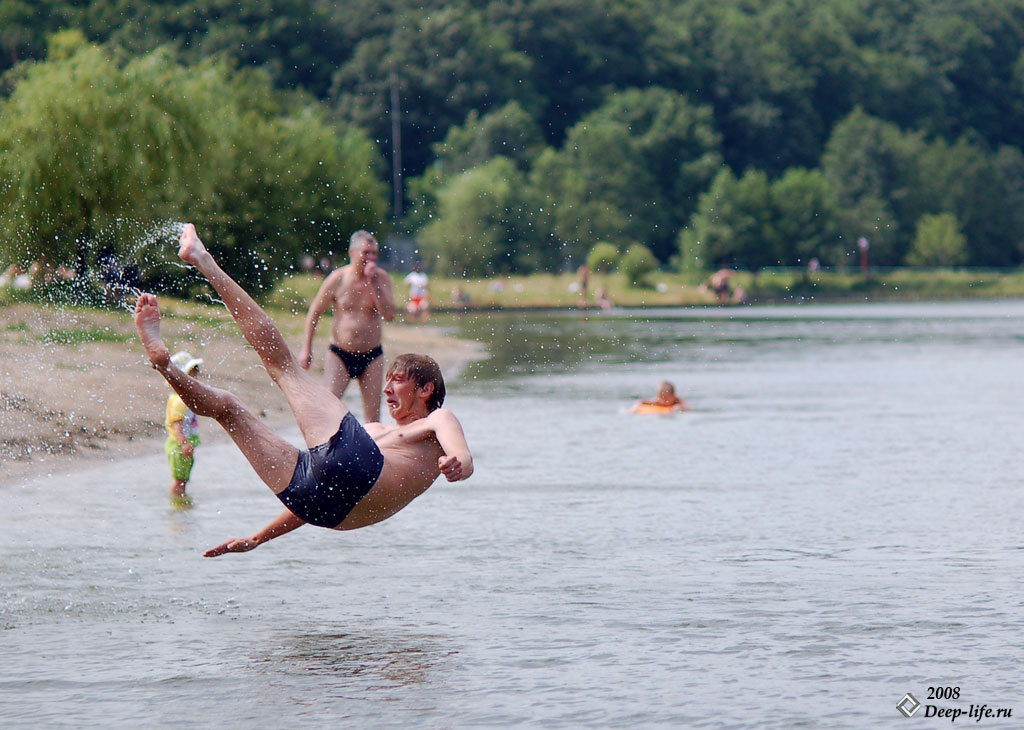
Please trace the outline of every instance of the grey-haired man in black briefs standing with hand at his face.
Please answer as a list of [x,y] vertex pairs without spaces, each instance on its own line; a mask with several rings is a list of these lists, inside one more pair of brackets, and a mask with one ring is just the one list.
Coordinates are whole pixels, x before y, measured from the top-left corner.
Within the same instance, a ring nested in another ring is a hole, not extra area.
[[328,389],[339,398],[355,378],[362,393],[364,423],[381,420],[384,350],[381,321],[394,318],[391,278],[377,266],[377,239],[356,230],[349,240],[350,263],[332,271],[309,305],[299,364],[309,370],[313,335],[321,316],[334,309],[330,353],[324,363]]

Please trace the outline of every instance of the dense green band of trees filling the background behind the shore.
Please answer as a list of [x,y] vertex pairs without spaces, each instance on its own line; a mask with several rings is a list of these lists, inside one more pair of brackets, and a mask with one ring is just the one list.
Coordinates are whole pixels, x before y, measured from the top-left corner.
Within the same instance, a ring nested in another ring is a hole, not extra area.
[[0,0],[0,258],[1024,260],[1024,0]]

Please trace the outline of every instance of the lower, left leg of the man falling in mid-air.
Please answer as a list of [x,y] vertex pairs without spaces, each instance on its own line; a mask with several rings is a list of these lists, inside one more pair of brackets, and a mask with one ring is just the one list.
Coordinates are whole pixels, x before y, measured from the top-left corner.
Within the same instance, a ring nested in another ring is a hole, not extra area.
[[198,416],[216,419],[274,493],[287,488],[299,449],[267,428],[237,396],[201,383],[171,362],[170,351],[160,336],[157,298],[152,294],[142,294],[135,303],[135,327],[150,362],[185,405]]

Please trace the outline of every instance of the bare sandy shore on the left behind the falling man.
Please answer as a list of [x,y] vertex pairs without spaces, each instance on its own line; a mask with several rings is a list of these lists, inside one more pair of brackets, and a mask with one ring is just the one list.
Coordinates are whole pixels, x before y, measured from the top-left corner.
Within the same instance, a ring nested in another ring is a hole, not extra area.
[[[284,396],[227,312],[162,303],[173,349],[204,358],[208,381],[260,412],[273,428],[294,425]],[[273,313],[296,347],[302,318]],[[329,325],[318,328],[313,370],[323,368]],[[454,379],[482,348],[437,328],[387,324],[386,354],[425,352]],[[119,457],[163,449],[167,385],[148,367],[128,311],[0,308],[0,475],[4,483],[66,474]],[[207,443],[226,435],[203,420]]]

